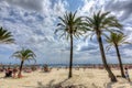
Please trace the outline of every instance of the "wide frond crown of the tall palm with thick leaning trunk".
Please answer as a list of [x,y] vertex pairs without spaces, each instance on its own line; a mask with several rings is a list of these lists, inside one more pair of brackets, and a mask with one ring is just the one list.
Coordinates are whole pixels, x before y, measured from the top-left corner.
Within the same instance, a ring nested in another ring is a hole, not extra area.
[[110,12],[99,11],[98,13],[94,13],[94,16],[86,18],[89,30],[92,32],[97,32],[99,35],[103,34],[103,32],[112,32],[118,31],[113,30],[113,28],[122,29],[122,25],[118,22],[117,18],[113,15],[109,15]]

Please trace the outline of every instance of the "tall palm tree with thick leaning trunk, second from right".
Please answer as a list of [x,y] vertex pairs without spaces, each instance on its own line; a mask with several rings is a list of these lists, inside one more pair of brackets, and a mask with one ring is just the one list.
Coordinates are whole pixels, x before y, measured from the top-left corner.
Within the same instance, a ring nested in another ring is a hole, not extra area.
[[94,34],[97,35],[102,63],[103,63],[106,70],[109,74],[109,77],[111,78],[111,81],[117,81],[116,76],[113,75],[110,67],[108,66],[101,35],[105,35],[106,32],[117,31],[117,30],[113,30],[113,28],[121,29],[122,25],[118,22],[116,16],[109,15],[109,13],[110,12],[99,11],[98,13],[94,13],[94,15],[91,18],[87,16],[86,21],[87,21],[87,26],[89,28],[89,30]]

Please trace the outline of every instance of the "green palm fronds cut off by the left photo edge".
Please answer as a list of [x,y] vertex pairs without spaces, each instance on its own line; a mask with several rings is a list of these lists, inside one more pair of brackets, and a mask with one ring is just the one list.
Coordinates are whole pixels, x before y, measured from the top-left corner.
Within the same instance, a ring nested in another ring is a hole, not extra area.
[[0,43],[14,43],[14,38],[12,38],[11,32],[3,30],[3,28],[0,28]]

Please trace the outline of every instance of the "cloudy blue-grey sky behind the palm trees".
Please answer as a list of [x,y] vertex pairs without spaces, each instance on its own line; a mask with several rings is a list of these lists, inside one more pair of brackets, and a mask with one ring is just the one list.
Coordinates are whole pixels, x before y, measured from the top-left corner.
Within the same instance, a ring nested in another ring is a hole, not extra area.
[[[0,26],[12,32],[16,42],[0,45],[0,63],[20,63],[10,56],[21,47],[29,47],[40,64],[68,64],[69,42],[59,38],[54,31],[58,16],[76,10],[78,15],[111,11],[124,25],[128,41],[132,42],[132,0],[0,0]],[[123,63],[132,63],[132,45],[120,46],[120,52]],[[114,48],[107,52],[107,59],[118,63]],[[101,63],[96,38],[74,41],[74,63]]]

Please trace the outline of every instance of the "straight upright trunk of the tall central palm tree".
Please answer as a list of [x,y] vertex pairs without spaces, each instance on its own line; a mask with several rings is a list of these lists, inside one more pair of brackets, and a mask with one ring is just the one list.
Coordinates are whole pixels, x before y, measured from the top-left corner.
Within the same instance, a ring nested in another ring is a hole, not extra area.
[[73,77],[73,35],[70,34],[70,61],[69,61],[69,75],[68,78]]

